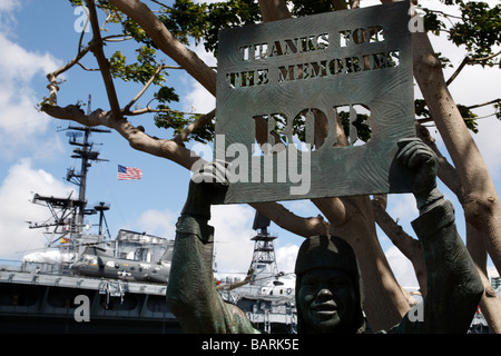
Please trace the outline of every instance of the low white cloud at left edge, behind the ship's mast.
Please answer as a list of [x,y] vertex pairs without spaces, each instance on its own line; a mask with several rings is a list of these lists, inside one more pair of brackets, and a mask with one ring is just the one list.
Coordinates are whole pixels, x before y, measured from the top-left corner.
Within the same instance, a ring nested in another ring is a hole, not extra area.
[[27,221],[43,222],[50,211],[31,202],[32,194],[67,197],[71,188],[41,169],[33,169],[29,159],[13,165],[0,186],[0,258],[20,259],[24,251],[47,243],[43,229],[29,229]]

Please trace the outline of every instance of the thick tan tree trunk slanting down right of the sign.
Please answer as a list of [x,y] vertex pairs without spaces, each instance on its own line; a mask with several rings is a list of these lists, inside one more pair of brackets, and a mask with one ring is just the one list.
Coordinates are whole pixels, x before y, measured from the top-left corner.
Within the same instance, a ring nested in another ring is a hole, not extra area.
[[[495,186],[449,92],[440,60],[436,58],[426,33],[413,33],[413,49],[414,77],[461,182],[464,217],[470,226],[466,229],[466,246],[472,251],[479,249],[479,244],[483,244],[497,269],[501,270],[501,204]],[[474,230],[481,231],[481,234],[473,234]],[[485,260],[480,260],[478,253],[472,254],[472,258],[482,274],[482,270],[485,269]],[[490,326],[493,328],[492,332],[499,333],[497,327],[501,318],[499,303],[487,303],[485,305],[488,308],[495,307],[495,310],[484,312],[497,316],[497,322]]]

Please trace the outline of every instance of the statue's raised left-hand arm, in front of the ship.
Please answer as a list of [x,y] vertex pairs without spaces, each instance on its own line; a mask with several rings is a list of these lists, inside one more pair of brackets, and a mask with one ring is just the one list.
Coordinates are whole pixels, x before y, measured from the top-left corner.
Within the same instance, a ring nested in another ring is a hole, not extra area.
[[252,333],[249,320],[223,300],[213,274],[214,229],[207,221],[220,187],[190,181],[176,226],[167,305],[186,333]]

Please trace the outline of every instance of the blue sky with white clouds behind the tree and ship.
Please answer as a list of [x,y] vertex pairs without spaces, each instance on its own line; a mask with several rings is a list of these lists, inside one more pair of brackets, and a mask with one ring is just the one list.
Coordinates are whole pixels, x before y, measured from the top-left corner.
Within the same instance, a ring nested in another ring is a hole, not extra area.
[[[428,4],[428,3],[426,3]],[[71,122],[51,119],[36,110],[37,102],[48,96],[46,75],[66,63],[77,52],[80,33],[75,30],[79,14],[66,0],[2,0],[0,4],[0,258],[20,258],[26,251],[42,247],[46,243],[41,230],[28,229],[26,221],[42,222],[46,210],[29,202],[31,192],[66,196],[75,186],[63,177],[69,167],[78,168],[70,158],[66,131]],[[86,41],[90,39],[87,34]],[[435,49],[458,66],[464,52],[445,39],[432,38]],[[109,46],[111,47],[111,46]],[[210,56],[196,49],[209,65],[216,65]],[[96,68],[94,57],[85,61]],[[500,97],[501,71],[468,67],[451,85],[458,102],[473,105]],[[448,69],[445,77],[452,70]],[[80,100],[87,103],[91,95],[91,108],[108,110],[108,101],[99,72],[85,72],[73,68],[65,75],[58,102],[61,106]],[[184,71],[171,71],[168,81],[179,90],[177,109],[208,112],[215,99],[196,85]],[[140,89],[116,82],[121,106]],[[420,93],[416,91],[416,97]],[[140,101],[139,105],[145,105]],[[492,107],[475,111],[489,116]],[[151,136],[170,138],[170,134],[153,123],[151,117],[130,119],[143,125]],[[501,122],[493,117],[479,120],[480,134],[475,140],[484,156],[497,186],[501,178]],[[58,132],[59,131],[59,132]],[[435,135],[434,128],[431,128]],[[435,135],[436,136],[436,135]],[[441,142],[440,137],[438,137]],[[111,209],[107,221],[111,236],[120,228],[147,231],[174,238],[175,222],[185,201],[189,172],[165,159],[139,152],[116,132],[97,134],[91,141],[107,162],[92,164],[89,172],[88,204],[106,201]],[[134,181],[117,180],[117,165],[143,169],[144,178]],[[442,189],[456,206],[458,225],[464,236],[462,210],[455,198]],[[391,196],[389,210],[400,219],[404,229],[412,233],[409,222],[418,216],[412,196]],[[318,211],[310,201],[291,201],[287,207],[302,216],[316,216]],[[252,257],[252,222],[254,210],[246,205],[217,207],[213,211],[216,227],[216,251],[223,271],[246,271]],[[90,218],[89,222],[97,222]],[[292,271],[297,246],[302,238],[272,225],[278,235],[276,243],[278,268]],[[391,243],[380,233],[383,250],[395,268],[399,280],[413,284],[412,270]]]

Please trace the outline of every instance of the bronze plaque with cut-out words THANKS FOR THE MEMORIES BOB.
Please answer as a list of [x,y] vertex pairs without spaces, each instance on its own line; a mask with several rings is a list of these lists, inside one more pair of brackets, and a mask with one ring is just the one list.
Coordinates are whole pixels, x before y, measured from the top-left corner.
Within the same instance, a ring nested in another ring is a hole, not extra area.
[[409,8],[219,33],[214,158],[230,162],[225,204],[410,191],[393,162],[396,141],[415,136]]

